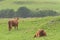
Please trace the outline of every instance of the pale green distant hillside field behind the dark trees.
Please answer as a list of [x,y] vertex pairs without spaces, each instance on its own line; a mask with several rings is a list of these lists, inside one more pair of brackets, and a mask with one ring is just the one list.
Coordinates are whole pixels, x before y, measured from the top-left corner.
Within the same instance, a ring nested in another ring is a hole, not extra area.
[[[18,3],[15,3],[18,2]],[[31,10],[39,9],[52,9],[60,11],[60,0],[3,0],[0,1],[0,10],[14,9],[26,6]]]

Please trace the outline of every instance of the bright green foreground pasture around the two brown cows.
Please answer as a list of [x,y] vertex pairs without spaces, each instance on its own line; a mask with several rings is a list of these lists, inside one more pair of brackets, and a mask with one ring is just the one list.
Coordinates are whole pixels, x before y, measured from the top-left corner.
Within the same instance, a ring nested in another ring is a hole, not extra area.
[[[60,40],[60,16],[44,18],[20,18],[19,29],[8,31],[8,18],[0,18],[0,40]],[[33,38],[38,29],[44,29],[45,37]]]

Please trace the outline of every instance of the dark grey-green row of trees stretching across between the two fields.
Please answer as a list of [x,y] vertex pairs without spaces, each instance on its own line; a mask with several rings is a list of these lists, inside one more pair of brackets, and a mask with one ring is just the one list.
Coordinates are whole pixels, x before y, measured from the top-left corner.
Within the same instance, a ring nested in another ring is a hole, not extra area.
[[12,18],[12,17],[46,17],[46,16],[58,16],[59,13],[54,10],[30,10],[27,7],[20,7],[17,11],[13,9],[0,10],[0,18]]

